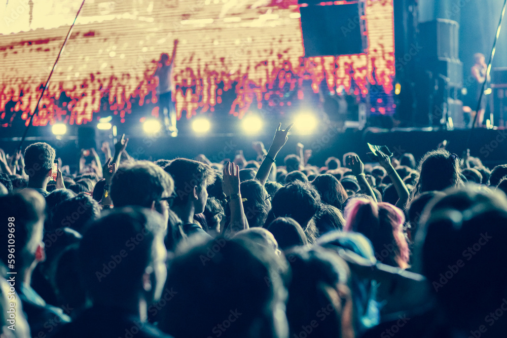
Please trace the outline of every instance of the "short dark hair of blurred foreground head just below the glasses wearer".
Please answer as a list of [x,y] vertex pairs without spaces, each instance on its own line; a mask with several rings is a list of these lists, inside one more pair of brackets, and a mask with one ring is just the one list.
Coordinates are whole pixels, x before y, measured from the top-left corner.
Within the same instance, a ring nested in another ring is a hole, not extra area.
[[90,224],[78,260],[84,285],[95,302],[118,301],[140,291],[142,275],[153,259],[153,242],[163,235],[164,227],[160,214],[139,207],[115,208]]

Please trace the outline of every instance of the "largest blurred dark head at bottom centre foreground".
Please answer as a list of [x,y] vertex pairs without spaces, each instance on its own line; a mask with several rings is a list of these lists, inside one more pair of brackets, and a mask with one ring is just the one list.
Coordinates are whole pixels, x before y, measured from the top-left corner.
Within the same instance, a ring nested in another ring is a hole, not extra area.
[[179,253],[166,282],[177,294],[158,312],[159,328],[175,338],[212,332],[222,338],[287,337],[279,259],[244,238],[209,240]]

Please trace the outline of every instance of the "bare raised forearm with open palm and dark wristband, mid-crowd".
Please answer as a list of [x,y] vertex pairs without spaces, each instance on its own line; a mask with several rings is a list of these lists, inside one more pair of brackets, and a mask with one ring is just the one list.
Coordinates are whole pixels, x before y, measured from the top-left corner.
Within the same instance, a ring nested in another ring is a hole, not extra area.
[[239,190],[239,167],[234,163],[227,162],[224,166],[224,178],[222,190],[227,196],[227,202],[231,208],[231,223],[226,229],[225,237],[231,238],[237,232],[248,229],[243,210],[243,201]]

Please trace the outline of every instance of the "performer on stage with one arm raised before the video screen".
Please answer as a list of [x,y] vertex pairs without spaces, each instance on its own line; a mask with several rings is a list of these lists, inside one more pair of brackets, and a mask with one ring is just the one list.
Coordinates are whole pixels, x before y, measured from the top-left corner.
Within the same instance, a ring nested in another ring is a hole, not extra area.
[[174,57],[176,56],[176,47],[178,40],[174,40],[174,48],[172,56],[162,54],[158,62],[158,68],[154,76],[159,79],[157,86],[159,114],[163,114],[163,122],[169,135],[176,137],[178,130],[176,129],[176,109],[172,103],[172,66],[174,65]]

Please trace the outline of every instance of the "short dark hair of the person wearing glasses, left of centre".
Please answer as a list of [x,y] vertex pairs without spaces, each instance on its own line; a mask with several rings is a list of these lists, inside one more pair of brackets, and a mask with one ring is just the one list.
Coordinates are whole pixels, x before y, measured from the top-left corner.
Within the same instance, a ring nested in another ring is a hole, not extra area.
[[137,205],[151,208],[166,192],[172,194],[172,178],[150,161],[136,161],[120,166],[111,183],[111,199],[115,207]]

